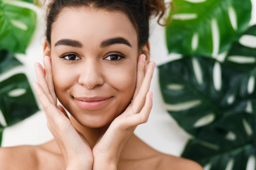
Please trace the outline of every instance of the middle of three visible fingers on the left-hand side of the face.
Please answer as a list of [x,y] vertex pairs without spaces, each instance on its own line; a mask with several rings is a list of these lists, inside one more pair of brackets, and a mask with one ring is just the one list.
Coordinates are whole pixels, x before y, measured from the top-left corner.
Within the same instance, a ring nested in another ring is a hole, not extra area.
[[42,87],[43,91],[47,95],[50,102],[52,102],[52,104],[55,105],[55,101],[54,101],[54,99],[53,99],[53,97],[52,97],[52,95],[49,91],[48,84],[47,84],[47,82],[45,80],[45,77],[44,77],[42,65],[40,63],[36,62],[34,64],[34,66],[35,66],[35,69],[36,69],[36,76],[37,76],[38,83]]

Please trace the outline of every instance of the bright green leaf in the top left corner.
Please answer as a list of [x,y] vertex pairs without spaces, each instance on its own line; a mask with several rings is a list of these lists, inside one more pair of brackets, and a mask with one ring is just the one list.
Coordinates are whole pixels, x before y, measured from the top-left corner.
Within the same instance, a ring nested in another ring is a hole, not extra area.
[[25,53],[36,27],[36,13],[0,0],[0,47]]

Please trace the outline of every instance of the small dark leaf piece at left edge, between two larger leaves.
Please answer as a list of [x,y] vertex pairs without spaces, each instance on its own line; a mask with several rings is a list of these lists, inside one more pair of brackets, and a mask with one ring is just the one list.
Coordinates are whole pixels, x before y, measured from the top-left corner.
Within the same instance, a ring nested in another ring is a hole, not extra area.
[[0,50],[0,74],[18,65],[22,63],[14,57],[13,53]]

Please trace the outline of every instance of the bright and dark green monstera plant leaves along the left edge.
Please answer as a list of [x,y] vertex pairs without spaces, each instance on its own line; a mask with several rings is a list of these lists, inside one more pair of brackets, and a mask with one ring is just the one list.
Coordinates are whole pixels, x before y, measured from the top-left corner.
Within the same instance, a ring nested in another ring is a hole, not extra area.
[[[33,0],[23,0],[32,3]],[[19,1],[15,1],[16,3]],[[36,13],[28,8],[16,6],[14,1],[0,0],[0,77],[3,73],[22,63],[16,53],[25,53],[36,27]],[[18,73],[0,82],[0,145],[3,129],[31,116],[38,106],[28,79]]]

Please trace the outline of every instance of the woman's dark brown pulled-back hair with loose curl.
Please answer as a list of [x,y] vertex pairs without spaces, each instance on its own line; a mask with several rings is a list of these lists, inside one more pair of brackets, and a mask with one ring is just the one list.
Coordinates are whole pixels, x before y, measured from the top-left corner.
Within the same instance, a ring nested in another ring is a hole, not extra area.
[[[120,11],[126,14],[134,26],[138,37],[138,49],[146,45],[149,39],[149,19],[159,15],[157,23],[166,12],[164,0],[52,0],[47,7],[46,13],[46,39],[51,44],[51,31],[53,23],[64,7],[89,7],[104,9],[107,11]],[[165,20],[167,21],[167,20]]]

